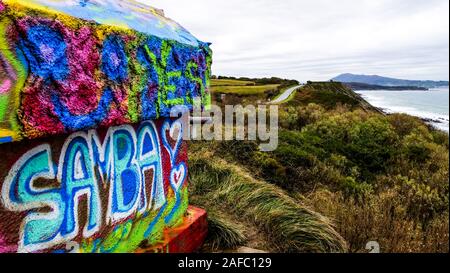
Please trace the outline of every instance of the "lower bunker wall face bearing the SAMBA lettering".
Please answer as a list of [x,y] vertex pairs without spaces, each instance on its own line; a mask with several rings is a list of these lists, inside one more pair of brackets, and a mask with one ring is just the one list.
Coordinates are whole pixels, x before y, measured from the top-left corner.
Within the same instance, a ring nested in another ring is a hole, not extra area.
[[[0,215],[24,216],[20,226],[0,219],[0,252],[7,246],[1,238],[14,238],[7,234],[11,228],[18,228],[19,252],[61,246],[106,252],[107,238],[94,239],[107,227],[114,233],[123,225],[127,229],[139,225],[142,236],[134,238],[139,244],[154,235],[158,221],[170,226],[187,203],[182,129],[180,121],[167,119],[111,127],[104,135],[97,130],[78,132],[67,137],[60,149],[58,144],[42,143],[10,168],[0,168],[9,169],[5,174],[0,171]],[[6,146],[0,148],[2,156],[14,157]],[[153,220],[145,226],[142,221],[149,215]]]

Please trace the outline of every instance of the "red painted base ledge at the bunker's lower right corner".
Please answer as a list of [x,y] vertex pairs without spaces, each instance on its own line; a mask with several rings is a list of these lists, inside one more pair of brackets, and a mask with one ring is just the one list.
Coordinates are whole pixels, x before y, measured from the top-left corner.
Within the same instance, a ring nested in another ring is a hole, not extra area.
[[137,253],[192,253],[204,243],[208,233],[205,210],[189,206],[183,223],[164,232],[163,242],[149,248],[140,248]]

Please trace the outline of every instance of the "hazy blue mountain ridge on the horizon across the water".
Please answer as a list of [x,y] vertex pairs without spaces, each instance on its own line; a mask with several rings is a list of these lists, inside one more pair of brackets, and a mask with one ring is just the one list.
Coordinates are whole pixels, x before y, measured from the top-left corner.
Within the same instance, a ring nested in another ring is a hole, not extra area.
[[332,79],[344,83],[365,83],[382,86],[416,86],[424,88],[448,87],[448,81],[416,81],[387,78],[378,75],[341,74]]

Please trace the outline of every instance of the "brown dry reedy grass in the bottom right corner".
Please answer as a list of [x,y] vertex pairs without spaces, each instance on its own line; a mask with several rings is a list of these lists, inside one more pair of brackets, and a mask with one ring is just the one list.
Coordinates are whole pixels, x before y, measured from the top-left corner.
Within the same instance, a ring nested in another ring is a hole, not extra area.
[[350,252],[366,252],[369,241],[386,253],[448,253],[449,217],[436,218],[427,226],[410,219],[398,193],[386,191],[363,200],[318,190],[304,198],[314,209],[335,220]]

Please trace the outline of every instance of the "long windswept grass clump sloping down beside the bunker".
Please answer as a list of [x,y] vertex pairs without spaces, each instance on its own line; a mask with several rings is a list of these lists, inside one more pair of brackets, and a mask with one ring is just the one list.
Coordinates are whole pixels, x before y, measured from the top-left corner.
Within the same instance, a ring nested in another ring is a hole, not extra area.
[[344,239],[330,221],[281,189],[258,181],[241,168],[207,153],[190,155],[193,202],[224,206],[266,234],[280,252],[345,252]]

